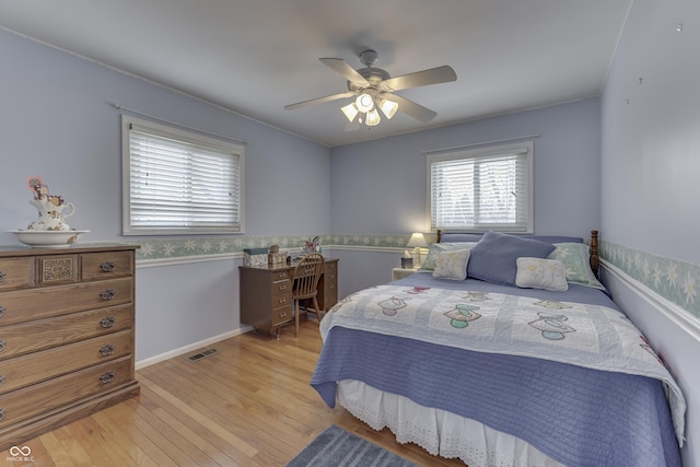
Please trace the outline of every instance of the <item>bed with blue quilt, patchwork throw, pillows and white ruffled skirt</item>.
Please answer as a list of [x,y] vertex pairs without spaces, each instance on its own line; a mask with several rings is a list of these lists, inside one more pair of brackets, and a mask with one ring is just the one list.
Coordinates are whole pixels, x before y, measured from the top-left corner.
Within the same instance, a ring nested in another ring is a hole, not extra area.
[[679,466],[686,401],[597,280],[597,232],[440,234],[324,317],[312,386],[477,466]]

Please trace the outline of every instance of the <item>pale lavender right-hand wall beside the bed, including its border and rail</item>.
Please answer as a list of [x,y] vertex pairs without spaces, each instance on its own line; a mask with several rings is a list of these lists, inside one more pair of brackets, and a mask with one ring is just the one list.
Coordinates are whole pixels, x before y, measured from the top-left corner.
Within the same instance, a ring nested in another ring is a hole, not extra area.
[[602,98],[606,281],[685,393],[686,466],[700,465],[698,44],[700,2],[634,1]]

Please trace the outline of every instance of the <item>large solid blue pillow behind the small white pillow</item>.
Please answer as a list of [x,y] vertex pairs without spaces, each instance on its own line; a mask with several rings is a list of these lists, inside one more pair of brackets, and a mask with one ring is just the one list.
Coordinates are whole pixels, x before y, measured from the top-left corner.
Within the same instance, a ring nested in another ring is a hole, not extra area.
[[527,256],[547,258],[555,245],[489,231],[471,248],[467,275],[488,282],[515,285],[515,260]]

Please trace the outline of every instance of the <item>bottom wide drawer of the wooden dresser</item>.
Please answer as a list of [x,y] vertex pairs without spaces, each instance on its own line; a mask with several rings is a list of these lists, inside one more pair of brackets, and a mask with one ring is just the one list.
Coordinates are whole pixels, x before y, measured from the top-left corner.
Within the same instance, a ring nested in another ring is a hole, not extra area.
[[0,428],[117,389],[131,381],[132,365],[128,357],[1,395]]

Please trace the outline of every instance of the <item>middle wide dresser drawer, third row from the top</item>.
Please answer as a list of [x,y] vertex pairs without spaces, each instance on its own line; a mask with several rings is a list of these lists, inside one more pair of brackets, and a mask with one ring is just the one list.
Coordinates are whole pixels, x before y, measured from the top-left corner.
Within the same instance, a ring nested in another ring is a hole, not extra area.
[[0,360],[130,329],[132,304],[0,326]]

